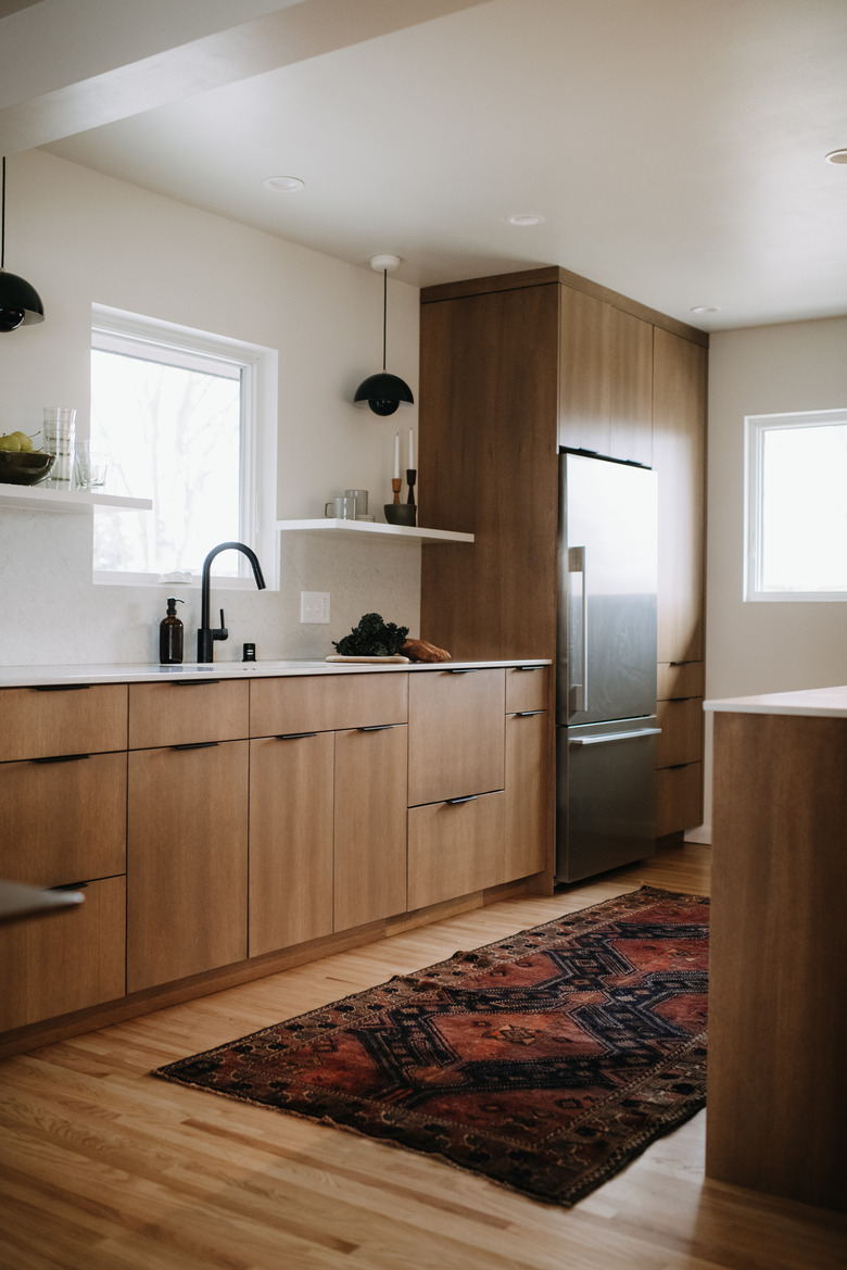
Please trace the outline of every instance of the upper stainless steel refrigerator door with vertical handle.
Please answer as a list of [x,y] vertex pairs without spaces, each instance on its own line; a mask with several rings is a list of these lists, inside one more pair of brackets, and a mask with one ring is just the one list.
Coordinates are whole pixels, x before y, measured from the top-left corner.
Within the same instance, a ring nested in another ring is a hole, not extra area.
[[657,478],[560,456],[560,724],[655,710]]

